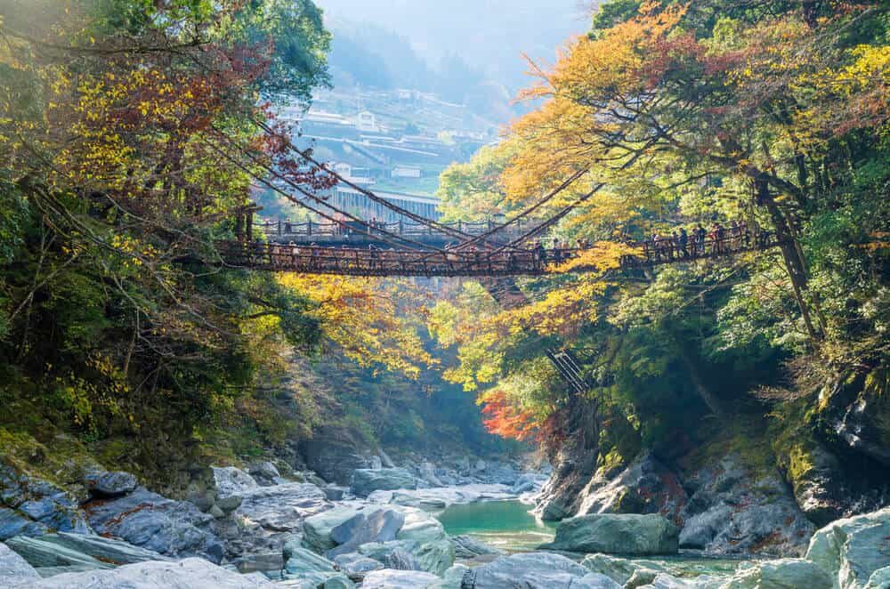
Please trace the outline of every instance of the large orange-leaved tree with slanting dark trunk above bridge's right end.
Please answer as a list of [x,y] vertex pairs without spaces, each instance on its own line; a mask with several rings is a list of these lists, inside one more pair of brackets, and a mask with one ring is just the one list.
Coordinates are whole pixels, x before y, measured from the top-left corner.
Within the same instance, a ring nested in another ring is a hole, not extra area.
[[[514,125],[529,149],[507,170],[507,189],[519,193],[541,177],[555,182],[569,162],[591,160],[607,182],[631,190],[641,177],[659,191],[708,176],[746,179],[781,239],[802,317],[818,340],[825,320],[818,295],[807,294],[796,229],[797,209],[815,198],[805,152],[886,120],[886,103],[874,95],[885,75],[862,63],[879,51],[851,47],[843,33],[878,15],[868,7],[831,15],[819,35],[803,12],[747,28],[722,20],[705,39],[684,26],[695,16],[677,4],[644,4],[639,15],[579,38],[552,71],[538,70],[542,85],[526,96],[547,100]],[[837,41],[827,44],[829,37]],[[845,93],[824,84],[839,75],[838,63],[861,76]]]

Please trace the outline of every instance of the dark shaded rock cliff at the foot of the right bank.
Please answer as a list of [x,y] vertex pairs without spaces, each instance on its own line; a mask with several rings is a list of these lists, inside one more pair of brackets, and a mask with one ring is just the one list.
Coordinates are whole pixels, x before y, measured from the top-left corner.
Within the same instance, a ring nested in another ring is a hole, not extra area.
[[537,512],[546,520],[661,513],[682,528],[683,548],[801,554],[815,528],[890,503],[886,390],[885,371],[838,376],[818,398],[764,417],[712,417],[696,440],[676,436],[625,456],[576,421],[554,452]]

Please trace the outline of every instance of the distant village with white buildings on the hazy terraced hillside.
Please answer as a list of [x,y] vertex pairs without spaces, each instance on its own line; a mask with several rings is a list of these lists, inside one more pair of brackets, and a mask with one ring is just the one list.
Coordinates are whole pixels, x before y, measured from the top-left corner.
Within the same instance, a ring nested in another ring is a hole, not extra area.
[[[407,89],[323,91],[308,111],[295,105],[278,115],[299,131],[301,145],[311,145],[316,157],[349,182],[431,218],[438,217],[434,195],[441,171],[498,139],[498,125],[465,106]],[[398,215],[357,190],[339,185],[330,192],[334,206],[368,219],[398,221]],[[274,214],[278,207],[270,207],[270,200],[275,199],[263,198]]]

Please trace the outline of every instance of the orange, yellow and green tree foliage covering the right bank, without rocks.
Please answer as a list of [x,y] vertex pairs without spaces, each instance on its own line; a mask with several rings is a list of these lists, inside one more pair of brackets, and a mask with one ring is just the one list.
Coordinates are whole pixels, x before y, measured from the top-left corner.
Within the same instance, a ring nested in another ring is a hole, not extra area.
[[[492,150],[447,176],[455,214],[473,198],[522,209],[582,173],[537,212],[574,206],[550,235],[600,244],[578,265],[609,268],[627,239],[739,217],[781,248],[608,282],[527,281],[530,304],[514,311],[480,296],[442,303],[433,329],[461,359],[449,375],[468,388],[509,378],[554,343],[530,345],[523,329],[558,336],[596,352],[598,398],[645,413],[652,439],[669,425],[652,416],[676,424],[690,399],[696,416],[735,407],[732,393],[770,382],[789,355],[824,379],[882,366],[886,19],[878,3],[604,4],[553,68],[531,64],[539,83],[522,97],[537,108],[511,126],[510,156],[492,165],[504,153]],[[615,340],[627,353],[609,351]],[[715,391],[720,370],[740,386]],[[659,386],[666,375],[682,377]],[[522,395],[496,401],[504,424],[525,418]]]

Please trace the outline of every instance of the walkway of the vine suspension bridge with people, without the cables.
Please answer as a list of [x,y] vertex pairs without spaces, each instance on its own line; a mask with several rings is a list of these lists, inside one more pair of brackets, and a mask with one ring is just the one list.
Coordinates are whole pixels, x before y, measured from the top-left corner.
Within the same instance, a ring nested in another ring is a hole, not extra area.
[[[699,246],[689,246],[684,253],[679,247],[652,249],[648,244],[635,244],[641,254],[626,255],[623,270],[662,264],[692,262],[720,258],[743,252],[765,250],[778,243],[771,236],[756,240],[748,236],[721,240],[706,239]],[[464,254],[423,252],[407,249],[337,248],[321,246],[280,245],[268,243],[223,242],[219,245],[223,261],[231,266],[253,270],[335,274],[344,276],[406,276],[406,277],[505,277],[537,276],[552,266],[578,256],[578,249],[549,249],[544,255],[525,249],[512,252],[486,251]],[[595,270],[578,268],[573,271]]]

